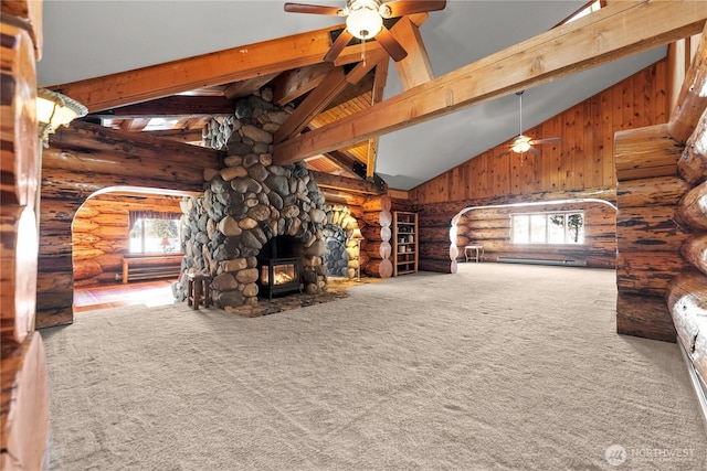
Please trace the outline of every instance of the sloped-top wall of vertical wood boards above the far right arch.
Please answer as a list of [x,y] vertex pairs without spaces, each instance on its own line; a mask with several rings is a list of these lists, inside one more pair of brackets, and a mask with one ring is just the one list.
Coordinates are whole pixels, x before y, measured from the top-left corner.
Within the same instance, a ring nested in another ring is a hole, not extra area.
[[506,152],[510,141],[410,191],[415,204],[503,199],[536,193],[615,188],[614,132],[666,122],[666,61],[634,74],[524,133],[560,137],[541,153]]

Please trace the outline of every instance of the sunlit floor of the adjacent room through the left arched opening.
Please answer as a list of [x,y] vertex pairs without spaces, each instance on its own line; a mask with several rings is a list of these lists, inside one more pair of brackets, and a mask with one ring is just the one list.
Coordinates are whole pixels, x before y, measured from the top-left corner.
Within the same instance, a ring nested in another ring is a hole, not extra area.
[[116,308],[119,306],[165,306],[175,302],[172,280],[99,285],[74,290],[74,311]]

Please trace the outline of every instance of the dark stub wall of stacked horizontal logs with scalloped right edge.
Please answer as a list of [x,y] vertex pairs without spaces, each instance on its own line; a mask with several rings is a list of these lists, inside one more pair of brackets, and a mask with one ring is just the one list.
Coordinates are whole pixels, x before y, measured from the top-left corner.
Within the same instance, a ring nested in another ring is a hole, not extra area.
[[619,333],[675,341],[665,291],[687,266],[679,247],[689,233],[675,221],[687,191],[677,178],[682,151],[667,125],[615,133]]

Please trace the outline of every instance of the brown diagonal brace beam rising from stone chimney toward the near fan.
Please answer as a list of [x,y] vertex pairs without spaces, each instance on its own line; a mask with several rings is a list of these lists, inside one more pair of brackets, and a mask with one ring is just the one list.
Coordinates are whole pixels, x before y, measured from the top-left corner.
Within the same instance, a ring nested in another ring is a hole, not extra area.
[[347,85],[358,83],[376,65],[387,60],[388,54],[384,51],[376,51],[368,54],[366,62],[359,62],[348,74],[345,74],[341,67],[331,69],[275,132],[275,142],[298,135]]

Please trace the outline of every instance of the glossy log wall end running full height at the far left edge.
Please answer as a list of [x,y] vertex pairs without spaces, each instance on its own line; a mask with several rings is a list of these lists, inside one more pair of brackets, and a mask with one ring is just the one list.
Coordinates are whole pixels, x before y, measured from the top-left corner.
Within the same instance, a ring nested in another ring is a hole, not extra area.
[[3,0],[0,11],[0,469],[42,470],[49,468],[49,378],[34,332],[42,3]]

